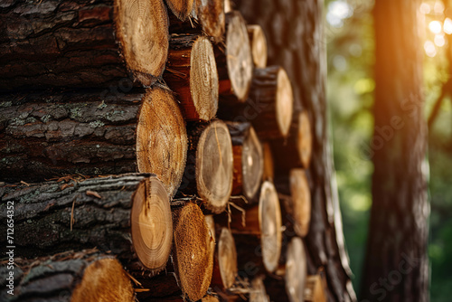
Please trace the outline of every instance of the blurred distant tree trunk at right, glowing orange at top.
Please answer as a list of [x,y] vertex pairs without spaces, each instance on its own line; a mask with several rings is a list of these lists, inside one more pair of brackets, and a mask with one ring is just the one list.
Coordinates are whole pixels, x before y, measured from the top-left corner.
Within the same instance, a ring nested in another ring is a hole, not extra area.
[[361,288],[363,298],[371,301],[428,301],[427,127],[419,5],[382,0],[374,8],[375,126],[365,150],[374,164],[373,203]]

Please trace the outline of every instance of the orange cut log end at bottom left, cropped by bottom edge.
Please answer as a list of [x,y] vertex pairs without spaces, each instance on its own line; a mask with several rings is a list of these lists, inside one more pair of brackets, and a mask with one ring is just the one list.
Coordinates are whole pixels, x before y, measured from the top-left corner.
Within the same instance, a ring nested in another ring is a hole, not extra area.
[[113,258],[89,264],[71,296],[73,302],[134,300],[135,292],[130,278],[119,261]]

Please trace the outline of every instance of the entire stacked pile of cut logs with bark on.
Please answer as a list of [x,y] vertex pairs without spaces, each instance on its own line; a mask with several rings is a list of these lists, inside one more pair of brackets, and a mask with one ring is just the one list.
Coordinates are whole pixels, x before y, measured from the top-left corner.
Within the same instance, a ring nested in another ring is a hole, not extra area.
[[258,25],[222,0],[0,18],[2,301],[325,301],[310,123]]

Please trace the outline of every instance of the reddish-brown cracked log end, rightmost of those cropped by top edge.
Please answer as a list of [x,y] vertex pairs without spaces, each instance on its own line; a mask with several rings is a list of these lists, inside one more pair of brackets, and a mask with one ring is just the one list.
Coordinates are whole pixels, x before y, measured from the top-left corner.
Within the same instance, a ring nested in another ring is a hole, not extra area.
[[196,0],[202,31],[220,42],[224,34],[225,14],[222,0]]

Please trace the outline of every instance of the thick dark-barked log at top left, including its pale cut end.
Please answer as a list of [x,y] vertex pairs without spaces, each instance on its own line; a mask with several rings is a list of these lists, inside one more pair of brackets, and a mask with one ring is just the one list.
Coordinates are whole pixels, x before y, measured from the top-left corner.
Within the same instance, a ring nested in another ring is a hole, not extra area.
[[162,0],[11,1],[0,19],[0,90],[151,85],[165,69]]

